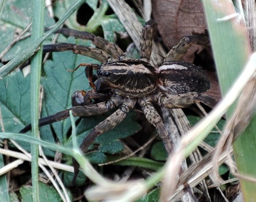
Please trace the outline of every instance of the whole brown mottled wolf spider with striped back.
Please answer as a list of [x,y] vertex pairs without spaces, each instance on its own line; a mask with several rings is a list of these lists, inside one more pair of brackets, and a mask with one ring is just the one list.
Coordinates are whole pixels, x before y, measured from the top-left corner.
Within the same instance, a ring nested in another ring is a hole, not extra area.
[[[191,44],[206,46],[208,38],[201,35],[182,38],[164,57],[161,64],[153,66],[149,63],[154,22],[148,21],[142,29],[140,37],[140,59],[126,58],[123,51],[101,37],[88,32],[61,29],[59,32],[82,39],[91,40],[97,48],[80,44],[60,43],[45,46],[45,51],[58,52],[71,50],[95,58],[103,64],[83,63],[92,91],[77,91],[72,96],[73,107],[60,111],[55,115],[42,118],[39,125],[61,121],[69,117],[72,111],[75,117],[103,114],[117,107],[115,113],[96,125],[83,139],[80,149],[86,152],[97,136],[119,124],[137,104],[144,112],[146,119],[153,124],[165,143],[166,150],[172,151],[171,141],[167,141],[167,131],[156,110],[156,106],[166,108],[184,108],[195,102],[203,102],[208,106],[216,104],[215,99],[202,94],[210,88],[210,82],[198,66],[179,61]],[[93,75],[97,69],[97,75]],[[92,104],[92,99],[98,100]],[[31,129],[31,125],[20,132]]]

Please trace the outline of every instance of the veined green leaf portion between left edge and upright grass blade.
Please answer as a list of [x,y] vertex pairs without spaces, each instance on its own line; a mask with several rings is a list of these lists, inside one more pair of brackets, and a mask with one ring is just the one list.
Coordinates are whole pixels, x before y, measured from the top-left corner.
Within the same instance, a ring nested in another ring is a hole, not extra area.
[[29,86],[29,77],[24,78],[20,71],[0,80],[0,107],[5,131],[18,132],[30,123]]

